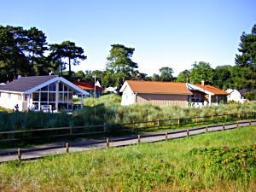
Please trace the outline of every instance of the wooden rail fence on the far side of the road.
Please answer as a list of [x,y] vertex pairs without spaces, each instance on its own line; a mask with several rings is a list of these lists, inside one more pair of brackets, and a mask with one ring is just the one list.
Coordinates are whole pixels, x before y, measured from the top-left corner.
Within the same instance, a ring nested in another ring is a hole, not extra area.
[[[55,128],[39,128],[17,131],[0,131],[0,142],[17,141],[27,138],[42,137],[69,137],[103,134],[112,131],[147,131],[153,128],[175,127],[183,125],[206,125],[209,123],[226,122],[227,120],[236,121],[240,119],[253,119],[256,112],[248,113],[226,113],[212,114],[204,117],[194,118],[175,118],[175,119],[156,119],[150,121],[133,121],[130,123],[69,126]],[[38,132],[38,133],[37,133]],[[22,134],[25,134],[22,135]]]

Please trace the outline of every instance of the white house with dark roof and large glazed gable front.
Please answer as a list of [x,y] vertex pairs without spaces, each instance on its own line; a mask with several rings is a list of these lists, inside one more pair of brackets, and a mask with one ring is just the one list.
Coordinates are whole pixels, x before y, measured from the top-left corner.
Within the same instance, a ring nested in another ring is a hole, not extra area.
[[73,95],[90,96],[67,79],[49,76],[21,77],[9,84],[0,86],[0,106],[19,111],[58,112],[61,109],[73,110]]

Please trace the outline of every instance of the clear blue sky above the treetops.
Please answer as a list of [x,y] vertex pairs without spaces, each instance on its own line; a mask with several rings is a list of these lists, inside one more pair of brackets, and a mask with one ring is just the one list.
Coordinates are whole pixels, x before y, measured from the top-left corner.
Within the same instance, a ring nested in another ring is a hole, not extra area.
[[49,44],[71,40],[88,59],[78,70],[103,70],[111,44],[135,48],[142,73],[195,61],[234,65],[241,32],[256,23],[256,0],[3,0],[3,26],[36,26]]

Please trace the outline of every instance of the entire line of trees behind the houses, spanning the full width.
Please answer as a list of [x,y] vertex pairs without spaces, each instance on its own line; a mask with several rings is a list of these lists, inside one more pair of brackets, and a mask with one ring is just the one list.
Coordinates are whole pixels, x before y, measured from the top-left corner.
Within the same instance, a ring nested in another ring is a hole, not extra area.
[[96,74],[103,86],[119,86],[126,79],[191,83],[205,80],[219,89],[253,90],[256,86],[256,25],[251,33],[242,33],[238,50],[241,55],[236,55],[235,66],[212,68],[206,61],[195,61],[191,69],[184,70],[177,77],[173,77],[171,66],[161,67],[159,73],[148,76],[139,72],[138,64],[132,61],[134,48],[112,44],[104,70],[74,73],[71,66],[87,58],[83,48],[71,41],[47,44],[44,32],[36,27],[26,30],[20,26],[0,26],[0,82],[10,81],[18,75],[54,72],[67,79],[83,81],[93,81],[92,76]]

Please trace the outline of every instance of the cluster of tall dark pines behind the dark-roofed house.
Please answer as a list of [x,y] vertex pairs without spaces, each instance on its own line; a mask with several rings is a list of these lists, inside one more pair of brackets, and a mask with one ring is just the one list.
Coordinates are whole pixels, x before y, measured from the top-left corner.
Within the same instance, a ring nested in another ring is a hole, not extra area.
[[83,54],[84,49],[71,41],[47,44],[44,32],[36,27],[0,26],[0,82],[18,75],[62,73],[67,65],[70,78],[71,65],[86,59]]

